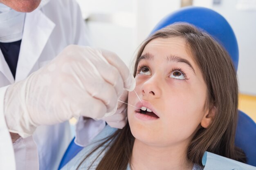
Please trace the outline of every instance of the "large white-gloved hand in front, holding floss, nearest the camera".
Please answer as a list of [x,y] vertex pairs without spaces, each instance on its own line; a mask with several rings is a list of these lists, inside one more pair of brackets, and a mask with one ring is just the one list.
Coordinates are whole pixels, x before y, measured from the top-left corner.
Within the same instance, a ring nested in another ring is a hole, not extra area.
[[117,55],[70,45],[49,64],[7,88],[4,115],[10,132],[27,137],[39,125],[79,116],[101,119],[116,108],[124,89],[134,88],[135,79]]

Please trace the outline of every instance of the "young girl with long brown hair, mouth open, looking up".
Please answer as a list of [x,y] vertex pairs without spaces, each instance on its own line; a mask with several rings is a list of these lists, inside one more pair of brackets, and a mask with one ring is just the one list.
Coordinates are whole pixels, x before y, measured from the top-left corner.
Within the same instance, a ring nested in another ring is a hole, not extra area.
[[125,128],[106,126],[63,169],[202,170],[205,151],[246,161],[234,146],[236,72],[210,35],[184,23],[155,32],[134,76]]

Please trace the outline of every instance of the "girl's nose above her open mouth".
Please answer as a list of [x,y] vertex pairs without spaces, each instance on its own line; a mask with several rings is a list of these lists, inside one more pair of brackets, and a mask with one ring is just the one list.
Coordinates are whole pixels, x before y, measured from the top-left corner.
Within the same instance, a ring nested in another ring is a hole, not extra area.
[[160,79],[157,76],[150,77],[141,86],[143,98],[159,98],[162,95]]

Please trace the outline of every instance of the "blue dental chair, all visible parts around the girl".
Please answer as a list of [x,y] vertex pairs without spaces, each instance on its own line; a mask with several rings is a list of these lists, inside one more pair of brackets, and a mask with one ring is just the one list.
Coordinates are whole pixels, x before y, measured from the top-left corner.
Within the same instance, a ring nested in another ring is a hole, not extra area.
[[[182,8],[162,19],[151,34],[175,22],[188,22],[211,34],[228,51],[237,70],[239,56],[236,36],[222,15],[203,7]],[[238,114],[235,144],[245,152],[247,164],[256,166],[256,123],[242,111],[239,110]],[[82,149],[83,147],[77,146],[73,139],[61,160],[59,169]]]

